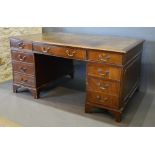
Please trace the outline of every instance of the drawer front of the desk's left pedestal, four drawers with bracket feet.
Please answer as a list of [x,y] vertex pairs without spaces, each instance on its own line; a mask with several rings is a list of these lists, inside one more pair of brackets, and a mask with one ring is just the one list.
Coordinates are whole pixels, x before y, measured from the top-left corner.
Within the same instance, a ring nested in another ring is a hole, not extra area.
[[11,39],[11,55],[13,67],[13,90],[26,87],[37,98],[34,53],[32,43]]

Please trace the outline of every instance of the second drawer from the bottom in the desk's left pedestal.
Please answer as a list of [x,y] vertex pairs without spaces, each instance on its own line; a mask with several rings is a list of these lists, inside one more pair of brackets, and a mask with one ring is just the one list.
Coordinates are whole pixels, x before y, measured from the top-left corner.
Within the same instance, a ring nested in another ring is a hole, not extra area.
[[14,61],[12,63],[12,66],[13,66],[14,72],[34,75],[34,66],[31,64],[26,64],[26,63]]

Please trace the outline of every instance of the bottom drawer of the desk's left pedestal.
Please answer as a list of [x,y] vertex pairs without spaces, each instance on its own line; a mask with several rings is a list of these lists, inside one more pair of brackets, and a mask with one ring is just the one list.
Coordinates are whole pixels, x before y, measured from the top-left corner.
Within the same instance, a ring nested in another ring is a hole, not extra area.
[[18,84],[22,84],[24,86],[35,87],[35,80],[33,77],[14,73],[14,82]]

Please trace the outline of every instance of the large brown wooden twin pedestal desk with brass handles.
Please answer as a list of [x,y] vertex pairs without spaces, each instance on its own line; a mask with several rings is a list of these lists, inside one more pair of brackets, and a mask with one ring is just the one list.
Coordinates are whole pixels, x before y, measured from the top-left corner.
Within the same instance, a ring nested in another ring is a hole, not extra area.
[[119,122],[140,85],[143,42],[55,32],[11,37],[13,91],[25,87],[37,99],[52,81],[65,75],[74,78],[73,60],[86,61],[85,112],[107,109]]

